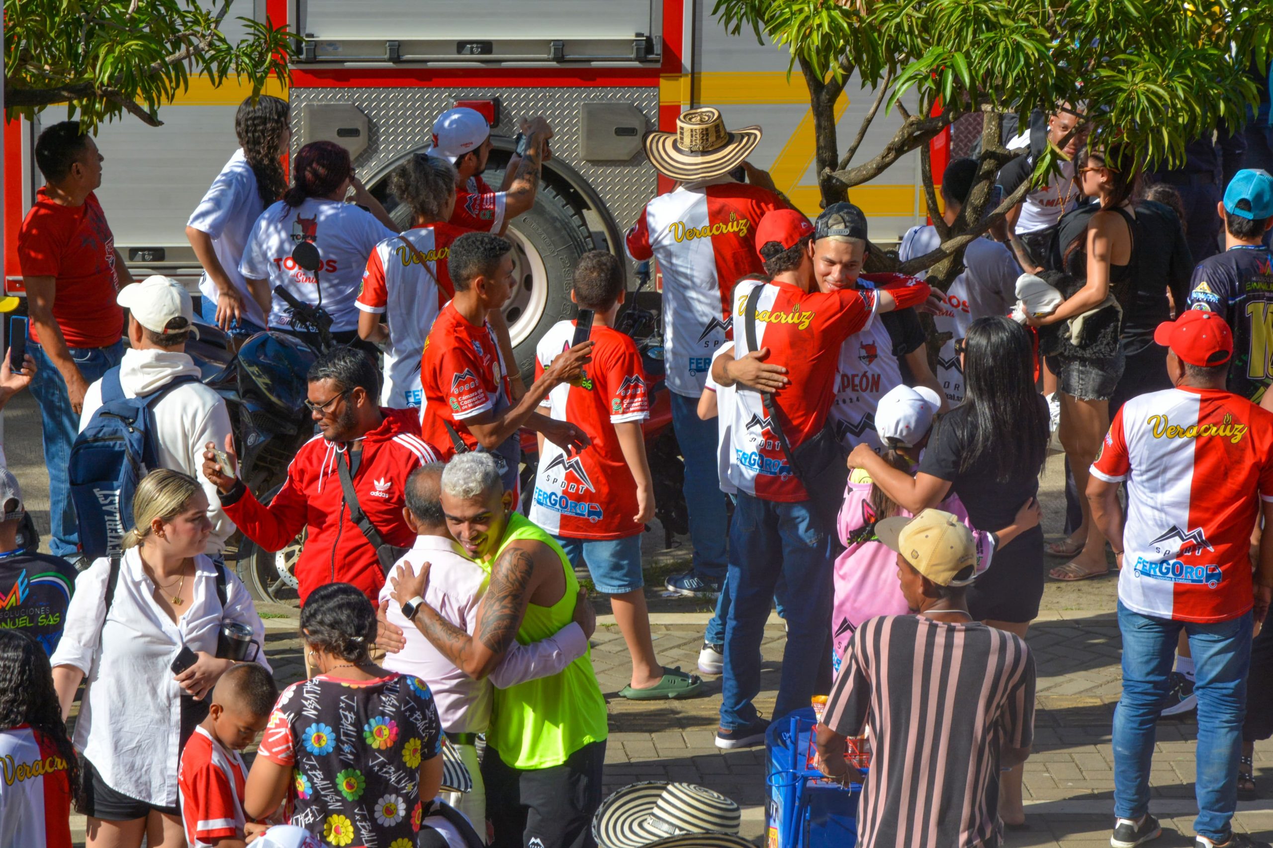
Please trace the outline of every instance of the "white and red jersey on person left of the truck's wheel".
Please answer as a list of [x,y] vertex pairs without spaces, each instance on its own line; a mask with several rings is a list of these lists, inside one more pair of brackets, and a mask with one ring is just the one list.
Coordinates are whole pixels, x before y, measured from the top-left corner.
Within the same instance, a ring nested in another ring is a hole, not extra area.
[[[424,340],[438,312],[454,295],[447,257],[451,242],[463,233],[446,222],[416,227],[386,238],[367,260],[363,288],[354,304],[363,312],[388,318],[382,406],[401,409],[423,402],[420,358]],[[404,244],[404,238],[415,250]]]

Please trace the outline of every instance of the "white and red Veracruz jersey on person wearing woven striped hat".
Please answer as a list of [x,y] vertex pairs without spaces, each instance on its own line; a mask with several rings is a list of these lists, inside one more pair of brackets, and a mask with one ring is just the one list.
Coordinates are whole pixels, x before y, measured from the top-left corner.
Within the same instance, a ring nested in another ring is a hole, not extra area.
[[703,393],[712,354],[731,337],[735,284],[764,272],[756,225],[784,208],[768,188],[718,177],[654,197],[628,232],[628,253],[654,257],[663,275],[663,362],[677,395]]

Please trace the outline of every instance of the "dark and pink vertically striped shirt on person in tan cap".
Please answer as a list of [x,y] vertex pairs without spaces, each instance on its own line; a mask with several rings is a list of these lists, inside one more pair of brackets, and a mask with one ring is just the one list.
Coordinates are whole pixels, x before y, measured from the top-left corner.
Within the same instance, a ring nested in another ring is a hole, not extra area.
[[849,643],[824,714],[869,726],[861,848],[993,848],[999,751],[1034,735],[1035,668],[1016,635],[923,616],[871,619]]

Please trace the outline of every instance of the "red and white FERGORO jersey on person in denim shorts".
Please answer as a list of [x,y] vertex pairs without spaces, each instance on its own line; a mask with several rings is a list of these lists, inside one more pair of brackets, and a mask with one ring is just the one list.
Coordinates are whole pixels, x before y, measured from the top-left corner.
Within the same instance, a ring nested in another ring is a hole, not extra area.
[[[535,350],[535,378],[570,349],[574,321],[559,321]],[[610,327],[594,326],[592,363],[579,386],[561,383],[541,406],[592,439],[574,456],[544,441],[528,518],[554,536],[624,539],[644,531],[636,514],[636,481],[619,447],[615,424],[649,418],[649,391],[636,344]]]

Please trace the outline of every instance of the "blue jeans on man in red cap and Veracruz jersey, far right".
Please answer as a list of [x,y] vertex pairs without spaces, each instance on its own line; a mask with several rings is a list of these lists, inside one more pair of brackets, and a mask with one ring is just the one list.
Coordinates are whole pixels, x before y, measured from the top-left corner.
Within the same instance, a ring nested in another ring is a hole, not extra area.
[[1150,810],[1150,760],[1158,709],[1167,694],[1176,637],[1184,630],[1193,652],[1198,695],[1194,830],[1213,842],[1227,839],[1237,807],[1251,614],[1194,624],[1141,615],[1120,602],[1118,629],[1123,634],[1123,696],[1114,710],[1114,815],[1139,819]]

